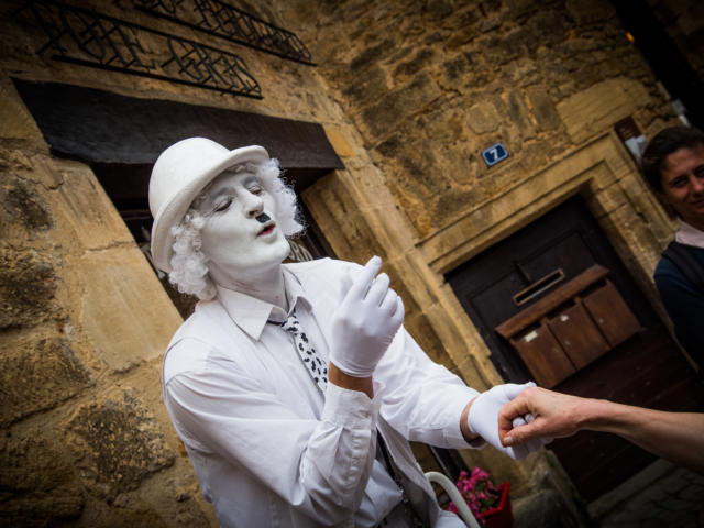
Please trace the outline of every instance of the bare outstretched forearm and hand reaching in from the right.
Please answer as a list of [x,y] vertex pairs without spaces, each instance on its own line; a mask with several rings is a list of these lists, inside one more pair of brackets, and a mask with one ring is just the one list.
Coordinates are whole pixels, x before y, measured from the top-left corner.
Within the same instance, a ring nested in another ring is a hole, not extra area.
[[[514,428],[513,418],[526,414],[535,420]],[[532,387],[504,406],[498,429],[504,446],[543,437],[570,437],[580,430],[612,432],[658,457],[704,473],[704,414],[666,413]]]

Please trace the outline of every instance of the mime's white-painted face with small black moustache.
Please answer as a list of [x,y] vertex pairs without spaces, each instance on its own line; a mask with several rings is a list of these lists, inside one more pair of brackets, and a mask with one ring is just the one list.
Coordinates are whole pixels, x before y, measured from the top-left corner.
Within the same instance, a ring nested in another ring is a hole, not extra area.
[[253,174],[222,173],[199,209],[207,217],[200,231],[201,250],[217,284],[232,287],[263,276],[290,251],[276,226],[274,197]]

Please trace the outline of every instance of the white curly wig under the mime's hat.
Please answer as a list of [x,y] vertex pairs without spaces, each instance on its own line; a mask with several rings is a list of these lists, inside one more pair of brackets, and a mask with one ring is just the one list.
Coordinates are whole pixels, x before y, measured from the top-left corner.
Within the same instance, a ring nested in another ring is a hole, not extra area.
[[[296,193],[279,178],[278,160],[235,165],[227,172],[254,174],[276,204],[276,223],[286,237],[304,230],[300,212],[296,204]],[[215,182],[216,178],[213,178]],[[208,275],[208,257],[200,250],[200,230],[208,217],[199,211],[212,182],[196,197],[179,226],[172,228],[174,254],[168,280],[182,294],[195,295],[201,300],[216,296],[216,287]]]

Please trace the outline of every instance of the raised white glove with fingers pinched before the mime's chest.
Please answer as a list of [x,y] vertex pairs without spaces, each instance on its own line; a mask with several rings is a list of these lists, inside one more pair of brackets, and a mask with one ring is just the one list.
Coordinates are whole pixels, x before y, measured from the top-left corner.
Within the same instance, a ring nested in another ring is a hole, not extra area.
[[404,302],[388,275],[376,276],[381,267],[373,256],[332,316],[330,361],[350,376],[371,376],[404,322]]

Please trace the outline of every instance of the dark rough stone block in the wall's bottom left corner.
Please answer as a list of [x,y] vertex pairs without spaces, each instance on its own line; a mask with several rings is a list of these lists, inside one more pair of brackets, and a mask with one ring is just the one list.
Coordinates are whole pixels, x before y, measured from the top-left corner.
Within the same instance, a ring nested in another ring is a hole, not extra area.
[[59,526],[80,516],[85,497],[54,433],[0,437],[0,526]]

